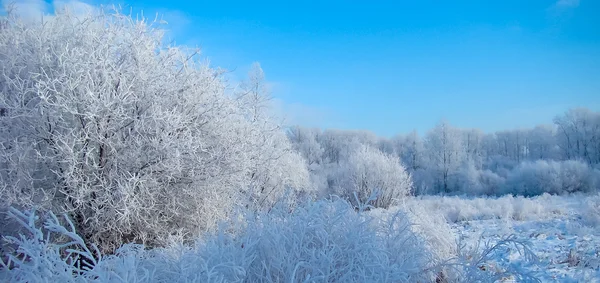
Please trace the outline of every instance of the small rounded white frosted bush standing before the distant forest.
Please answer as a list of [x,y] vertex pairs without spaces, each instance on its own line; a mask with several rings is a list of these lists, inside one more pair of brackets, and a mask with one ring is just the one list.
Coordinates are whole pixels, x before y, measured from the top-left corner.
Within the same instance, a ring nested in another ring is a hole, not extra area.
[[373,193],[377,199],[371,205],[387,208],[408,196],[412,180],[400,160],[371,146],[361,145],[350,154],[338,172],[339,195],[365,202]]

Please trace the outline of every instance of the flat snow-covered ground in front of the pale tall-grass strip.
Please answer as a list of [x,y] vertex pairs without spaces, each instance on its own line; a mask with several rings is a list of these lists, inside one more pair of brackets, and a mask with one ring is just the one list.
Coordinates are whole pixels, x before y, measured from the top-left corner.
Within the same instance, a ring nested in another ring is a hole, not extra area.
[[[456,223],[453,231],[467,245],[474,246],[480,239],[498,241],[511,233],[516,239],[529,242],[538,257],[535,263],[525,263],[516,251],[499,253],[486,265],[521,265],[524,270],[543,282],[600,282],[600,237],[588,233],[576,219],[557,218],[537,221],[477,220]],[[504,262],[505,259],[508,262]]]

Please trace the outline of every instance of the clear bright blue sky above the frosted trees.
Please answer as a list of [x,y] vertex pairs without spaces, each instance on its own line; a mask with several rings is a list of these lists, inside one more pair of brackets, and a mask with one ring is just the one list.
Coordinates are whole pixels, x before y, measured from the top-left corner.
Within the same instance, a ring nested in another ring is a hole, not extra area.
[[289,123],[489,132],[600,110],[597,0],[116,3],[163,14],[178,44],[236,76],[260,62]]

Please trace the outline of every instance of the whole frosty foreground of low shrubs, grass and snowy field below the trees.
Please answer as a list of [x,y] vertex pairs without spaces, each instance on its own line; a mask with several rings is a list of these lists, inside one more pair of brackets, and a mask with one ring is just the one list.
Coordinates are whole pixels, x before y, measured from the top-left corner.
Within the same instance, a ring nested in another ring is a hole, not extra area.
[[[166,248],[125,245],[108,256],[86,249],[57,218],[39,229],[34,214],[13,211],[30,235],[14,239],[18,252],[4,258],[0,280],[600,282],[599,204],[600,196],[584,195],[426,196],[356,212],[343,201],[318,201],[293,213],[240,215],[192,246],[173,239]],[[95,267],[79,268],[61,250]]]

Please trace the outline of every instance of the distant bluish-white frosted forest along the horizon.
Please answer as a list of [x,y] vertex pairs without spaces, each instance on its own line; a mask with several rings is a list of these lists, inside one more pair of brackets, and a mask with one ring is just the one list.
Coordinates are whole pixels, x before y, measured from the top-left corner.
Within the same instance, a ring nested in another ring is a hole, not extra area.
[[[382,138],[368,131],[305,127],[291,127],[288,136],[306,159],[313,185],[325,195],[343,195],[348,190],[347,180],[359,177],[354,173],[360,170],[352,173],[348,168],[359,166],[349,163],[357,162],[353,155],[365,146],[373,149],[372,154],[401,163],[406,172],[400,174],[412,179],[413,194],[587,192],[594,190],[600,179],[600,113],[586,108],[568,110],[552,124],[495,133],[457,128],[442,120],[424,136],[413,131]],[[373,170],[377,166],[365,164],[362,171],[385,174],[381,168]],[[385,191],[394,186],[389,180],[393,177],[371,176],[376,184],[363,180],[353,189],[361,191],[362,186],[363,190]]]

